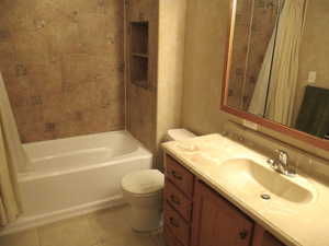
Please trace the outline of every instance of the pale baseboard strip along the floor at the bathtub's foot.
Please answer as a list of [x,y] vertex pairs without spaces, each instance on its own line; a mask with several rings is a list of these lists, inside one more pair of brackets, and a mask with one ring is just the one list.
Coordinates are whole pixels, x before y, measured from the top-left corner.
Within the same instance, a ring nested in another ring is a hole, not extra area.
[[18,233],[24,230],[38,227],[45,224],[50,224],[57,221],[66,220],[73,216],[83,215],[98,210],[107,209],[116,206],[125,204],[122,195],[117,195],[104,200],[93,201],[82,206],[72,207],[65,210],[58,210],[55,212],[44,213],[36,216],[22,215],[16,222],[5,226],[0,231],[0,236],[12,233]]

